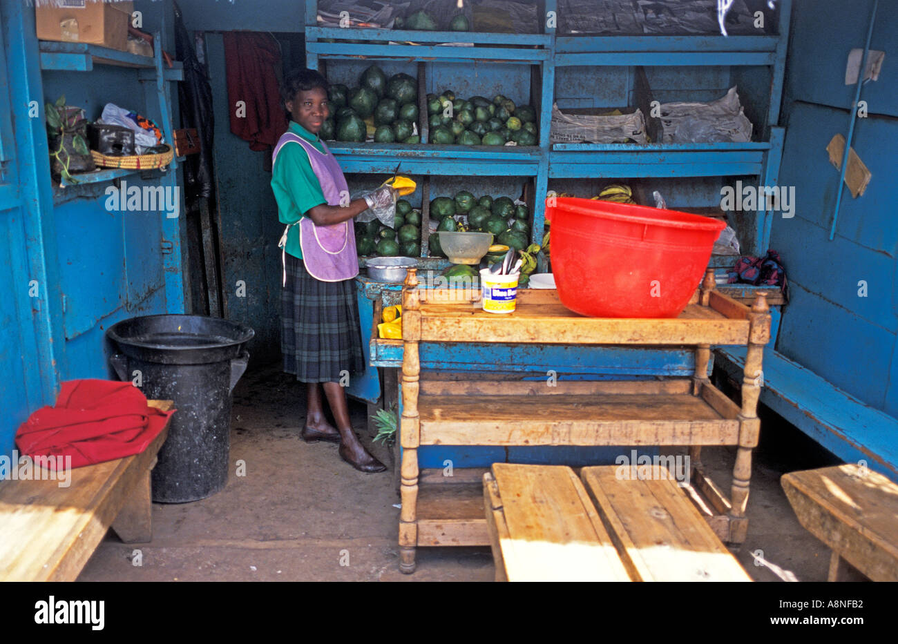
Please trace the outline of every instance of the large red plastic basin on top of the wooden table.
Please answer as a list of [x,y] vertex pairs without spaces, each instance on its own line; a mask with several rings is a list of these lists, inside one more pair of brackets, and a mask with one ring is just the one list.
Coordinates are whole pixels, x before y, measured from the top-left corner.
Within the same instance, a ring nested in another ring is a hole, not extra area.
[[546,200],[559,299],[591,318],[676,318],[726,223],[593,199]]

